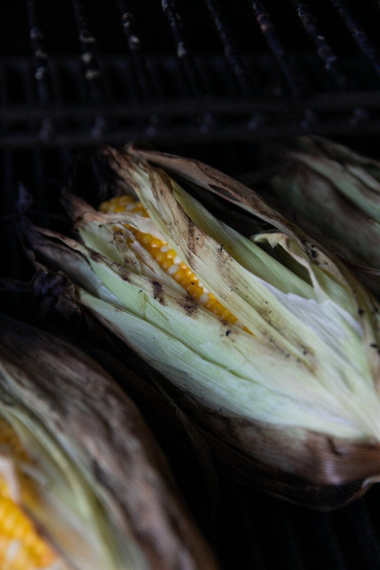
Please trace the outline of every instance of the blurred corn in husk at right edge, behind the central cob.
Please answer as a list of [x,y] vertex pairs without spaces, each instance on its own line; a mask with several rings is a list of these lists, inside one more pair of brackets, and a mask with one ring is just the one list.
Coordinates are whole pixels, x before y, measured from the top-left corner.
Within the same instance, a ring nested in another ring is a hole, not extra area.
[[297,137],[269,150],[267,160],[261,188],[269,189],[268,198],[379,294],[380,162],[321,137]]

